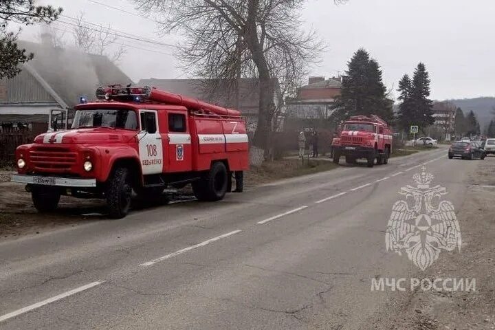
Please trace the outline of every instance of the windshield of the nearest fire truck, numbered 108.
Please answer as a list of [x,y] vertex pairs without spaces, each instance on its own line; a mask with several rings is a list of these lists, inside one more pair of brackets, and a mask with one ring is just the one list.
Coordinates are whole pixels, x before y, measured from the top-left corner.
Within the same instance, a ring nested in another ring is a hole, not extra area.
[[83,127],[111,127],[113,129],[137,129],[137,116],[126,109],[78,110],[72,122],[73,129]]

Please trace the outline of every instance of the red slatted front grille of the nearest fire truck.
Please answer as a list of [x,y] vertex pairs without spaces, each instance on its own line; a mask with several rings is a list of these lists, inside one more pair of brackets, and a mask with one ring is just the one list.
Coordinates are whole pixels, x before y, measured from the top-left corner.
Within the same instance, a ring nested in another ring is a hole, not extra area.
[[77,162],[77,153],[67,148],[41,146],[30,151],[30,159],[39,170],[69,170]]

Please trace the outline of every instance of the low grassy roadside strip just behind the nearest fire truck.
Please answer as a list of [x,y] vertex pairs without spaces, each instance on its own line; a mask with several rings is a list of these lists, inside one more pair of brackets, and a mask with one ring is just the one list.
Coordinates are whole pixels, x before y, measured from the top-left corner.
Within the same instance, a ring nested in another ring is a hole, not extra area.
[[309,160],[308,163],[307,159],[305,159],[305,164],[303,165],[300,159],[281,159],[274,162],[265,162],[259,167],[252,166],[245,173],[244,182],[247,186],[256,186],[279,179],[333,170],[337,167],[333,162],[327,161]]

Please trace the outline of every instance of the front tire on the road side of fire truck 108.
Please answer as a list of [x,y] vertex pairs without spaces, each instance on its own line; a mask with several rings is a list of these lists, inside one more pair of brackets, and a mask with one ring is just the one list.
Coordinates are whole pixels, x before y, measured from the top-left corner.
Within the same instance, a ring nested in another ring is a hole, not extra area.
[[107,186],[107,207],[109,216],[120,219],[127,215],[131,208],[131,174],[128,168],[115,169]]

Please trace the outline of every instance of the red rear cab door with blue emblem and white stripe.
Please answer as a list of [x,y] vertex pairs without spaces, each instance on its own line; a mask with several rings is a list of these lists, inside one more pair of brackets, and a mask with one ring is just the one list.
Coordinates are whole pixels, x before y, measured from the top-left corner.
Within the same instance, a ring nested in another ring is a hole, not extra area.
[[185,111],[166,111],[168,132],[164,145],[166,172],[187,172],[192,170],[191,136]]

